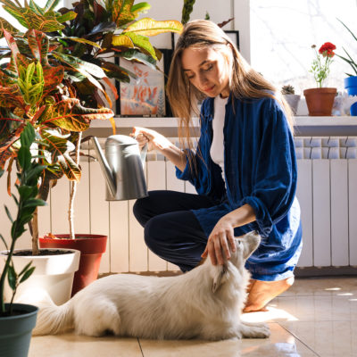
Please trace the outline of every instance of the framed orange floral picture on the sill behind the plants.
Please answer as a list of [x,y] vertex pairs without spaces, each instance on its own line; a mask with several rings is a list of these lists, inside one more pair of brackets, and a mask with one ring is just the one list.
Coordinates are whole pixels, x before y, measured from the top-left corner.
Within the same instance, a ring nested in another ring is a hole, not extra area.
[[120,58],[120,67],[137,76],[137,79],[130,79],[130,83],[120,82],[117,86],[120,94],[117,101],[117,113],[121,116],[164,117],[168,115],[165,72],[167,73],[170,68],[171,50],[161,51],[162,60],[157,62],[160,71],[155,71],[140,62],[130,62]]

